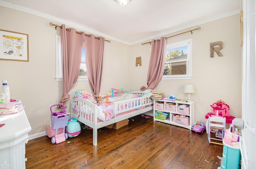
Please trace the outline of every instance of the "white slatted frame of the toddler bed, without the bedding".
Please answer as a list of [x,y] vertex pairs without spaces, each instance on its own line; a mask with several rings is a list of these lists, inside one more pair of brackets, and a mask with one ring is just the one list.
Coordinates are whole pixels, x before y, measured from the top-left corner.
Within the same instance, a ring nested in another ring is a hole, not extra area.
[[[132,94],[144,94],[142,91],[133,91],[130,92]],[[151,98],[138,97],[138,98],[132,98],[122,101],[117,101],[113,103],[113,111],[114,111],[114,117],[106,122],[97,122],[97,105],[93,104],[89,100],[86,100],[84,98],[72,98],[71,99],[71,105],[70,105],[70,116],[73,118],[76,118],[79,122],[82,122],[83,124],[91,127],[93,129],[93,145],[97,145],[97,129],[102,128],[105,126],[108,126],[110,124],[114,124],[116,122],[120,122],[122,120],[125,120],[127,118],[131,118],[133,116],[137,116],[138,114],[142,114],[145,112],[148,112],[150,110],[153,110],[153,101]],[[78,110],[73,110],[73,105],[78,105]],[[134,105],[133,107],[129,107],[128,105]],[[83,110],[86,109],[86,114],[80,112],[79,108],[80,106],[83,107]],[[121,110],[121,106],[122,109]],[[126,113],[120,116],[117,116],[120,113],[134,110],[136,108],[140,108],[146,106],[146,108],[142,108],[140,110],[132,111],[130,113]],[[87,115],[87,116],[86,116]],[[92,118],[89,118],[92,117]]]

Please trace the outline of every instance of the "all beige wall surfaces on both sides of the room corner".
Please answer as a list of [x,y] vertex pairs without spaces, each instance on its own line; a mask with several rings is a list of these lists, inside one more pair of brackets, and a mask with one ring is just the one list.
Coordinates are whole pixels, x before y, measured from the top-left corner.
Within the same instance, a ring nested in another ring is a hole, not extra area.
[[[3,6],[0,6],[0,22],[0,29],[29,35],[29,62],[0,60],[0,68],[4,70],[0,71],[0,80],[8,81],[11,98],[22,100],[32,127],[29,135],[43,133],[50,117],[50,106],[57,104],[62,96],[62,82],[54,79],[55,35],[60,34],[60,29],[55,30],[49,26],[49,22],[61,23]],[[176,94],[178,98],[186,98],[183,86],[192,83],[196,89],[196,93],[192,94],[192,99],[196,101],[195,120],[204,121],[204,115],[211,111],[210,104],[219,99],[230,105],[231,115],[240,118],[242,57],[239,15],[200,27],[202,29],[192,35],[188,33],[167,41],[171,43],[193,38],[192,80],[164,80],[156,90],[165,92],[166,96]],[[146,86],[150,45],[140,43],[130,46],[110,40],[111,43],[105,42],[104,46],[100,94],[106,94],[111,87],[124,87],[132,91]],[[209,46],[215,41],[223,41],[223,57],[215,55],[210,58]],[[135,67],[136,57],[140,56],[142,66]],[[78,81],[69,92],[70,96],[80,89],[91,92],[88,81]]]

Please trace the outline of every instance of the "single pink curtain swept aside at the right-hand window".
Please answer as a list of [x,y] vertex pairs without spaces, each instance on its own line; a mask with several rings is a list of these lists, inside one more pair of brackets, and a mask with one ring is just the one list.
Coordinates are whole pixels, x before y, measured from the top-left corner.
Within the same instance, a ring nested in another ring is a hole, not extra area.
[[161,37],[160,41],[154,39],[152,40],[152,48],[147,76],[147,85],[150,89],[154,89],[163,77],[165,51],[166,37]]

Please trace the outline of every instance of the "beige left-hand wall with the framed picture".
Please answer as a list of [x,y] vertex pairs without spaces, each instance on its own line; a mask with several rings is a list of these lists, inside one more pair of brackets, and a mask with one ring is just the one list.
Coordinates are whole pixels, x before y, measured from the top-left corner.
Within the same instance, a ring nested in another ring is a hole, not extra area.
[[[26,33],[29,37],[29,62],[0,60],[0,81],[8,81],[11,98],[22,100],[32,127],[29,135],[44,132],[50,106],[58,104],[62,96],[62,82],[54,79],[55,35],[60,35],[60,28],[55,30],[49,22],[61,23],[3,6],[0,6],[0,22],[0,29]],[[111,87],[129,88],[130,48],[113,40],[105,42],[100,94],[106,94]],[[78,81],[69,92],[70,96],[80,89],[91,92],[88,81]],[[69,112],[69,107],[67,110]]]

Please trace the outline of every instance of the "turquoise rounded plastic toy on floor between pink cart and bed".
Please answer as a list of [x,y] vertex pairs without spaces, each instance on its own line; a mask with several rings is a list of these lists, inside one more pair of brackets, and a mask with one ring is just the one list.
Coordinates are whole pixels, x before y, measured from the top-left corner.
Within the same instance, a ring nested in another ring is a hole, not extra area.
[[81,133],[81,126],[75,118],[68,119],[68,125],[65,128],[69,138],[76,137]]

